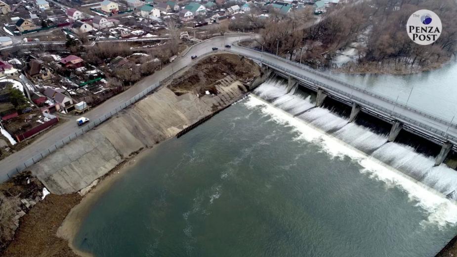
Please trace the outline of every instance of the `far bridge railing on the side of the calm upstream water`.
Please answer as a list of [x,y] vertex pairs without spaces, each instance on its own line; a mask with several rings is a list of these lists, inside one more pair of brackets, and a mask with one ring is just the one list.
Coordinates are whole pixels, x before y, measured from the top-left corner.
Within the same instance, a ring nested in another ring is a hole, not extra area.
[[[259,51],[258,49],[252,49],[252,48],[245,47],[245,46],[241,46],[241,45],[237,45],[236,47],[244,48],[244,49],[247,49],[247,50],[250,50],[250,51],[252,51],[252,50],[254,50],[254,51]],[[447,119],[444,119],[444,118],[442,118],[442,117],[439,117],[439,116],[434,115],[434,114],[431,114],[431,113],[427,113],[427,112],[425,112],[425,111],[423,111],[423,110],[419,110],[419,109],[417,109],[417,108],[415,108],[415,107],[412,107],[412,106],[409,106],[409,105],[406,105],[406,104],[403,104],[403,103],[399,103],[398,101],[396,101],[396,100],[394,100],[394,99],[392,99],[392,98],[389,98],[389,97],[385,97],[385,96],[379,95],[378,93],[373,92],[373,91],[371,91],[371,90],[367,90],[367,89],[362,88],[362,87],[359,87],[359,86],[354,86],[353,84],[347,83],[346,81],[344,81],[344,80],[342,80],[342,79],[340,79],[340,78],[338,78],[338,77],[335,77],[335,76],[332,76],[332,75],[329,75],[329,74],[326,74],[326,73],[317,71],[317,70],[312,69],[312,68],[310,68],[310,67],[308,67],[308,66],[306,66],[306,65],[304,65],[304,64],[300,64],[300,63],[297,63],[297,62],[293,62],[293,61],[288,60],[288,59],[286,59],[286,58],[283,58],[283,57],[281,57],[281,56],[278,56],[278,55],[275,55],[275,54],[271,54],[271,53],[268,53],[268,52],[265,52],[265,51],[263,51],[262,54],[265,54],[265,55],[268,55],[268,56],[273,57],[273,58],[275,58],[275,59],[278,59],[278,60],[280,60],[280,61],[286,62],[286,63],[288,63],[288,64],[291,64],[291,65],[295,66],[295,67],[298,67],[298,68],[300,68],[300,69],[306,70],[306,71],[308,71],[308,72],[310,72],[310,73],[319,75],[320,77],[324,77],[324,78],[326,78],[326,79],[328,79],[328,80],[330,80],[330,81],[339,83],[339,84],[344,85],[344,86],[346,86],[346,87],[349,87],[349,88],[351,88],[351,89],[353,89],[353,90],[360,91],[360,92],[364,92],[364,93],[370,94],[370,95],[372,95],[372,96],[374,96],[374,97],[376,97],[376,98],[378,98],[378,99],[381,99],[381,100],[383,100],[383,101],[386,101],[386,102],[395,104],[395,105],[397,105],[397,106],[401,106],[401,107],[403,107],[403,108],[405,108],[405,109],[408,109],[408,110],[410,110],[410,111],[413,111],[413,112],[415,112],[415,113],[418,113],[418,114],[420,114],[420,115],[422,115],[422,116],[424,116],[424,117],[427,117],[427,118],[429,118],[429,119],[438,121],[438,122],[440,122],[440,123],[442,123],[442,124],[451,125],[451,126],[456,126],[455,123],[451,123],[451,122],[450,122],[449,120],[447,120]],[[252,58],[257,59],[257,60],[259,60],[259,61],[265,62],[264,60],[261,60],[261,59],[259,59],[259,58],[256,57],[256,56],[252,56]],[[325,85],[325,86],[327,87],[327,85]]]

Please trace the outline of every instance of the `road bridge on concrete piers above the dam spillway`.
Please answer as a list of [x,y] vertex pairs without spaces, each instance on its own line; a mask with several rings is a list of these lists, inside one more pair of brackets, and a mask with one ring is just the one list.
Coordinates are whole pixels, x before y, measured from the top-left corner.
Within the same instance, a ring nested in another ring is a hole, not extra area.
[[316,71],[273,54],[234,45],[231,52],[257,61],[264,68],[264,79],[275,73],[288,79],[288,90],[293,86],[307,87],[317,93],[316,106],[330,97],[352,107],[348,122],[353,122],[360,111],[392,125],[388,141],[394,141],[402,129],[441,145],[435,159],[440,165],[451,150],[457,150],[457,125],[417,108],[398,103],[395,99],[348,84],[331,75]]

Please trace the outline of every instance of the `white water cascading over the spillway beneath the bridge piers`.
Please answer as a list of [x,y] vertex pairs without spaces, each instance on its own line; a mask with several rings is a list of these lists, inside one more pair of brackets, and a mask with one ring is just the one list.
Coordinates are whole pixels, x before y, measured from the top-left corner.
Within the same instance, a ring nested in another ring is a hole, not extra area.
[[457,171],[440,165],[434,167],[434,158],[415,152],[407,145],[387,142],[387,135],[377,134],[370,128],[348,123],[330,110],[314,107],[311,95],[291,90],[287,92],[287,81],[271,78],[255,89],[255,94],[284,111],[297,115],[315,127],[322,129],[355,148],[371,154],[371,157],[392,166],[417,181],[455,199]]

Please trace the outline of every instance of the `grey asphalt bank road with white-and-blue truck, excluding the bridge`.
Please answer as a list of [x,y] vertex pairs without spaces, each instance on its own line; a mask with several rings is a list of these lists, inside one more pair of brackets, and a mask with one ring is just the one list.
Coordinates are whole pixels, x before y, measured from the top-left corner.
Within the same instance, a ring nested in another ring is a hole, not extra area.
[[[219,47],[220,49],[224,47],[225,44],[233,43],[239,39],[249,39],[250,35],[244,36],[226,36],[226,37],[216,37],[208,41],[198,43],[190,48],[184,57],[179,57],[175,62],[165,66],[162,70],[156,71],[153,75],[148,76],[138,82],[135,86],[132,86],[128,90],[115,95],[114,97],[108,99],[101,105],[91,109],[90,111],[83,114],[84,117],[87,117],[91,120],[98,119],[106,113],[119,108],[122,104],[129,101],[132,97],[139,94],[149,86],[155,85],[162,81],[166,77],[172,75],[173,72],[180,70],[193,62],[198,61],[191,60],[192,55],[201,56],[208,52],[212,51],[212,47]],[[36,157],[42,151],[54,146],[56,142],[59,142],[63,138],[67,138],[69,135],[74,134],[77,130],[81,129],[76,124],[75,116],[74,121],[68,121],[66,123],[60,124],[58,127],[49,130],[45,134],[41,135],[30,145],[21,149],[20,151],[13,153],[7,158],[0,161],[0,181],[6,180],[8,177],[6,174],[12,174],[13,171],[16,171],[16,167],[24,166],[24,162]]]

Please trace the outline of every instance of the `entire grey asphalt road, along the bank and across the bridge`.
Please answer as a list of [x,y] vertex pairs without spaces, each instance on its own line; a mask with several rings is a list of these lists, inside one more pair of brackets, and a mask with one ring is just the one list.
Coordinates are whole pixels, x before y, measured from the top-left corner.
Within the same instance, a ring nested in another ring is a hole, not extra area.
[[[253,35],[240,35],[240,36],[226,36],[226,37],[217,37],[210,39],[208,41],[204,41],[201,43],[198,43],[194,45],[193,47],[190,48],[190,50],[183,56],[179,57],[175,62],[165,66],[162,70],[157,71],[153,75],[143,79],[139,83],[137,83],[135,86],[131,87],[130,89],[126,90],[125,92],[118,94],[109,100],[105,101],[103,104],[97,106],[96,108],[91,109],[89,112],[84,114],[84,117],[87,117],[91,120],[98,119],[99,117],[102,117],[106,113],[109,113],[110,111],[115,110],[116,107],[119,108],[119,106],[123,105],[125,102],[129,101],[132,97],[137,95],[138,93],[142,92],[146,88],[155,85],[165,79],[167,76],[172,75],[174,72],[180,70],[181,68],[184,68],[186,66],[189,66],[191,63],[198,61],[197,60],[191,60],[192,55],[198,55],[202,56],[204,54],[212,52],[212,47],[219,47],[219,49],[223,49],[225,44],[232,44],[233,42],[237,40],[243,40],[243,39],[249,39],[253,37]],[[353,90],[348,86],[342,85],[334,80],[329,79],[328,75],[319,75],[316,73],[313,73],[309,70],[304,69],[303,67],[300,67],[297,64],[292,64],[290,62],[286,62],[284,59],[279,59],[278,57],[270,54],[265,54],[261,53],[259,51],[247,49],[247,48],[242,48],[242,47],[237,47],[235,45],[232,46],[231,51],[242,54],[246,57],[256,59],[258,61],[266,61],[270,63],[274,63],[277,65],[279,70],[285,70],[289,72],[294,72],[296,74],[304,75],[309,78],[314,78],[314,80],[319,81],[323,84],[332,86],[333,88],[336,88],[340,91],[343,91],[347,94],[351,94],[353,96],[359,97],[361,99],[364,99],[365,101],[373,104],[380,106],[382,108],[388,109],[388,110],[394,110],[392,111],[392,115],[395,116],[395,114],[400,114],[405,117],[408,117],[414,121],[417,121],[418,123],[425,124],[427,126],[430,126],[431,128],[437,129],[441,132],[447,131],[449,135],[456,136],[457,135],[457,129],[455,126],[449,126],[449,122],[443,122],[439,121],[436,119],[433,119],[431,117],[427,117],[424,115],[421,115],[417,113],[414,110],[411,110],[410,108],[406,106],[400,106],[398,104],[392,103],[391,101],[385,101],[383,99],[380,99],[373,93],[369,91],[363,91],[363,90]],[[75,120],[77,117],[75,117]],[[32,157],[36,157],[39,155],[42,151],[47,150],[50,147],[53,147],[53,145],[62,140],[63,138],[68,137],[70,134],[74,134],[78,129],[81,129],[80,127],[77,126],[75,121],[69,121],[67,123],[61,124],[60,126],[51,129],[44,135],[40,136],[37,138],[36,141],[25,147],[19,152],[16,152],[7,158],[3,159],[0,161],[0,179],[4,180],[6,177],[7,173],[12,173],[12,171],[16,170],[16,167],[23,166],[24,162],[26,160],[29,160]],[[7,177],[6,177],[7,178]]]

